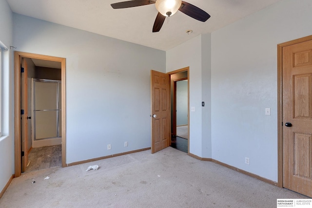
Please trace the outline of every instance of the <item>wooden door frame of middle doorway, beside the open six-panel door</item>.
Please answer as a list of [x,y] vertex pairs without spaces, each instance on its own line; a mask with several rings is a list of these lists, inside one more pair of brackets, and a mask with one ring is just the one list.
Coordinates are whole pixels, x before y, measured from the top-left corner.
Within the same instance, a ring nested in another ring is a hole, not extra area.
[[[190,154],[190,67],[184,67],[184,68],[181,68],[181,69],[178,69],[178,70],[175,70],[175,71],[172,71],[172,72],[168,72],[167,74],[169,74],[170,76],[170,83],[171,83],[171,75],[174,75],[174,74],[178,74],[178,73],[181,73],[181,72],[187,72],[187,95],[188,95],[188,98],[187,98],[187,113],[188,113],[188,118],[187,118],[187,122],[188,122],[188,144],[187,144],[187,152],[188,154]],[[185,79],[185,78],[183,78]],[[183,80],[183,79],[179,79],[179,80]],[[173,80],[174,83],[175,81],[178,81],[178,79],[176,80]],[[174,89],[175,90],[175,89]],[[171,86],[170,86],[170,92],[171,92]],[[171,95],[170,95],[170,105],[171,105]],[[175,106],[175,103],[173,104]],[[176,107],[174,107],[175,109]],[[171,125],[170,124],[170,130],[171,130]],[[172,133],[170,134],[170,136],[172,136]],[[171,145],[171,138],[170,138],[170,145]]]

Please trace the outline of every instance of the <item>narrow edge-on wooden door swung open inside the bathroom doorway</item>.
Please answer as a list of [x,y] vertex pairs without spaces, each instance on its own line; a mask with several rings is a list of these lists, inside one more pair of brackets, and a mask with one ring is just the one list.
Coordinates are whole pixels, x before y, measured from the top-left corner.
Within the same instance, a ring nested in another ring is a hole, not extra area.
[[28,87],[27,87],[27,62],[25,58],[21,60],[21,73],[20,73],[20,139],[21,139],[21,171],[24,172],[27,161],[27,143],[28,143]]

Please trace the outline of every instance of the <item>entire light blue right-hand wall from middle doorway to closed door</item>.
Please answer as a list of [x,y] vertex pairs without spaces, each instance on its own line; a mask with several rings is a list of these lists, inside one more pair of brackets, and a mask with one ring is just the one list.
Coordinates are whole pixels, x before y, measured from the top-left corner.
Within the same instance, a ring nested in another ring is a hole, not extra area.
[[312,35],[311,11],[281,0],[166,52],[167,72],[190,66],[191,153],[277,181],[277,44]]

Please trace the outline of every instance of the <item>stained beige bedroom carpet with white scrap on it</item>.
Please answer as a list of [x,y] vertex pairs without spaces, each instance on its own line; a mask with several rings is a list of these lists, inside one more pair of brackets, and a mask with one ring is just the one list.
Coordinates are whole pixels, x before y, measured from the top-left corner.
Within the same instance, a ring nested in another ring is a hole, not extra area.
[[[86,172],[89,165],[99,169]],[[276,208],[277,198],[308,197],[169,147],[25,173],[0,207]]]

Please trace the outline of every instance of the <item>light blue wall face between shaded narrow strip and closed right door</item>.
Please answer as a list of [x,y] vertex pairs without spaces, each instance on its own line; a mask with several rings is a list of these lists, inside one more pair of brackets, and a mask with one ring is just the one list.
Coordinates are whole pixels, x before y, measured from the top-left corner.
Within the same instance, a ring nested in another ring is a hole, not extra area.
[[214,159],[277,181],[277,44],[312,35],[311,11],[281,0],[212,33]]

